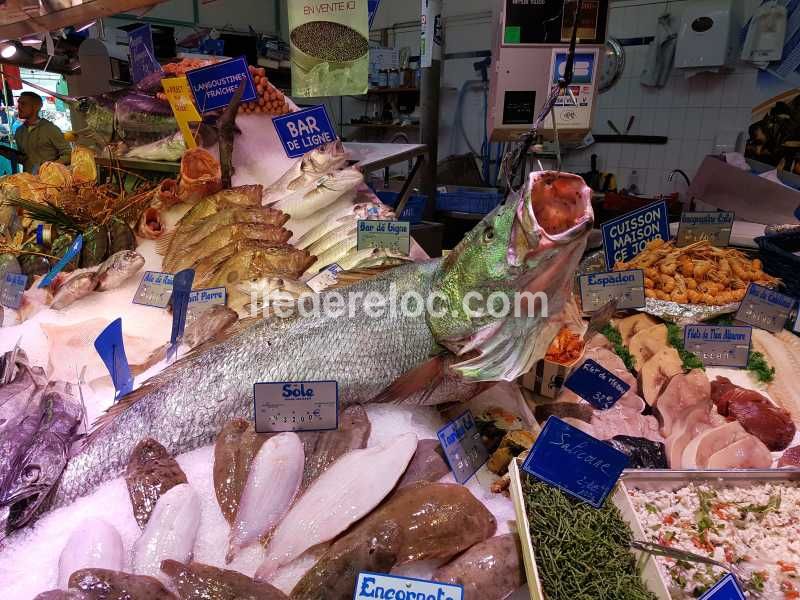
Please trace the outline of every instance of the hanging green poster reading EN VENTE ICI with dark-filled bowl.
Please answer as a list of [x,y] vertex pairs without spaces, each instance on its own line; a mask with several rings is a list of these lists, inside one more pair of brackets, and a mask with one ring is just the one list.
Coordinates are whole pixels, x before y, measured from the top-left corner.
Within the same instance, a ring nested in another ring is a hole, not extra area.
[[369,0],[293,0],[288,11],[292,95],[366,94]]

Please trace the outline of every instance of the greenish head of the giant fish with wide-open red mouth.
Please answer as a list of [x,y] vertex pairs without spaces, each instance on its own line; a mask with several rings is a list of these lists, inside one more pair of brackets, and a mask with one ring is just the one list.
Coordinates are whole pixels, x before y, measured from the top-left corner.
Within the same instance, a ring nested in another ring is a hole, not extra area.
[[544,356],[593,222],[582,178],[536,172],[444,259],[428,324],[440,345],[464,358],[457,373],[511,381]]

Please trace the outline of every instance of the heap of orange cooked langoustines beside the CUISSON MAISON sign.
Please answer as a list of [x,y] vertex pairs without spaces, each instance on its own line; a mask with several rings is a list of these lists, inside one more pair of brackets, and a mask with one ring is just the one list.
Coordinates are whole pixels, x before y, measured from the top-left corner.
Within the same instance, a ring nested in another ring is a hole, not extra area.
[[760,260],[707,241],[676,248],[673,242],[653,240],[633,260],[614,265],[615,271],[629,269],[644,271],[648,298],[681,304],[731,304],[744,298],[750,282],[767,287],[780,282],[764,272]]

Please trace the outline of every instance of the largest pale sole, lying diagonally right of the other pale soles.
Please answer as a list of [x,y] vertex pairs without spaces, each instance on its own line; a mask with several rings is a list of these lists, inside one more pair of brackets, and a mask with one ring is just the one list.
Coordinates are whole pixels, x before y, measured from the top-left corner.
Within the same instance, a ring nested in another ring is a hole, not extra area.
[[392,491],[416,449],[417,436],[406,433],[334,462],[278,525],[256,578],[269,580],[281,566],[369,514]]

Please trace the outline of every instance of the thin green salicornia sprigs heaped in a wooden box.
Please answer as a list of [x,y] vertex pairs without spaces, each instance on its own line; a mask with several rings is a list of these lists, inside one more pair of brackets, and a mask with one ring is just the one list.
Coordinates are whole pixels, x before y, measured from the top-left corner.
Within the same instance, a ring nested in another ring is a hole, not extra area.
[[656,600],[637,570],[630,527],[611,500],[598,510],[524,474],[522,492],[548,600]]

